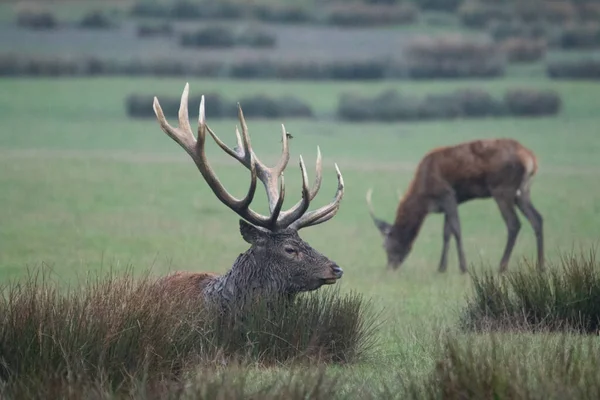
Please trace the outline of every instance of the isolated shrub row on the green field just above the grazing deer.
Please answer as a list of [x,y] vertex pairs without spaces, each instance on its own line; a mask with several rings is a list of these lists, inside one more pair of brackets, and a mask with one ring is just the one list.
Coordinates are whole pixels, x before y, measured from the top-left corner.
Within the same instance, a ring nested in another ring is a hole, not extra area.
[[414,121],[498,116],[554,115],[561,100],[553,91],[513,89],[497,100],[479,89],[417,97],[385,91],[374,97],[342,94],[338,118],[347,121]]

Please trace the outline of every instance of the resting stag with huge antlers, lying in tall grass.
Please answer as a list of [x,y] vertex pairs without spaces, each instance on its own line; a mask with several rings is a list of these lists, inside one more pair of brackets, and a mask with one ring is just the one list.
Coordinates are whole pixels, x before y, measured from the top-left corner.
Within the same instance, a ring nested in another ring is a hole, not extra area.
[[[282,125],[282,155],[276,166],[266,167],[254,153],[244,114],[238,104],[238,117],[242,133],[236,127],[237,147],[231,149],[222,142],[206,124],[204,96],[200,102],[198,139],[194,137],[188,118],[189,85],[186,84],[179,108],[179,127],[169,125],[158,99],[154,98],[154,112],[162,130],[190,155],[208,186],[217,198],[238,214],[242,238],[251,247],[241,254],[224,275],[198,272],[175,272],[161,280],[163,290],[187,296],[199,296],[210,303],[228,309],[244,305],[259,296],[283,295],[292,298],[299,292],[318,289],[334,284],[342,277],[342,269],[298,236],[298,230],[331,219],[338,211],[344,194],[344,181],[335,165],[338,178],[337,192],[333,201],[315,211],[307,212],[311,200],[321,186],[321,152],[317,147],[316,179],[309,189],[306,168],[300,156],[302,172],[302,198],[287,211],[282,211],[285,196],[283,171],[290,153],[288,137]],[[206,132],[231,157],[250,170],[250,188],[242,199],[233,197],[223,187],[205,154]],[[261,215],[249,208],[259,179],[267,192],[269,215]]]

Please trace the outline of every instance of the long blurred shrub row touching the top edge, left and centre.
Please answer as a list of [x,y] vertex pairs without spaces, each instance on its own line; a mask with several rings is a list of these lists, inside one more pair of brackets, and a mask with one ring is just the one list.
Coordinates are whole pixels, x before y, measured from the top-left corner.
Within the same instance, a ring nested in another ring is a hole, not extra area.
[[407,24],[416,21],[418,8],[409,2],[397,4],[345,3],[310,11],[298,5],[264,5],[205,1],[192,3],[176,1],[172,4],[139,2],[131,10],[135,16],[176,19],[239,19],[251,18],[265,22],[313,23],[344,26]]

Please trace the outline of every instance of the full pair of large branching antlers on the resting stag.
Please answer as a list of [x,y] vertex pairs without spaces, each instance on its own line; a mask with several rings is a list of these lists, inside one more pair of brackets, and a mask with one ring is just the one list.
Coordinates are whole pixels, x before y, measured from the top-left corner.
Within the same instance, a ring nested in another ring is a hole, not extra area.
[[[248,222],[272,231],[284,229],[286,227],[301,229],[307,226],[320,224],[331,219],[337,213],[337,210],[339,209],[339,203],[344,194],[344,181],[337,164],[335,165],[335,168],[338,175],[338,190],[333,201],[327,206],[306,213],[310,202],[317,195],[317,192],[321,187],[321,150],[318,147],[316,177],[312,188],[308,188],[306,167],[304,166],[304,160],[302,159],[302,156],[300,156],[300,171],[302,173],[302,198],[288,211],[281,212],[281,207],[285,197],[283,171],[287,167],[290,159],[288,138],[285,127],[281,125],[283,143],[281,158],[274,167],[269,168],[263,162],[261,162],[258,157],[256,157],[256,154],[252,150],[250,136],[248,134],[248,126],[246,125],[244,113],[242,112],[242,108],[239,103],[238,118],[240,120],[242,133],[240,134],[238,128],[236,127],[235,133],[237,136],[237,146],[234,149],[231,149],[221,139],[219,139],[219,137],[206,124],[206,118],[204,115],[204,96],[202,96],[202,100],[200,101],[198,140],[194,138],[188,117],[188,95],[189,84],[186,83],[183,94],[181,95],[181,104],[179,106],[178,128],[173,128],[169,125],[156,97],[154,97],[153,104],[154,112],[162,130],[169,135],[171,139],[183,147],[183,149],[192,157],[192,160],[194,160],[194,163],[200,170],[200,173],[222,203],[231,208]],[[204,143],[207,131],[221,149],[223,149],[227,154],[238,160],[242,165],[250,170],[250,188],[248,190],[248,194],[243,199],[237,199],[229,194],[208,164],[208,160],[206,159],[206,154],[204,152]],[[257,177],[263,183],[267,192],[267,200],[269,202],[270,212],[269,216],[258,214],[249,208],[256,191]],[[281,181],[279,181],[279,177],[281,177]],[[279,186],[279,188],[277,186]]]

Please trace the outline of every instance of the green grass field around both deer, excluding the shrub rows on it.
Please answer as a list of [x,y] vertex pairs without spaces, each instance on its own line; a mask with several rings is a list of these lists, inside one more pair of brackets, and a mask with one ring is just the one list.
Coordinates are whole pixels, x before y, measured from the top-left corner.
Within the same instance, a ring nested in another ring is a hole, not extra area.
[[[62,281],[89,270],[154,274],[171,269],[226,271],[247,245],[237,232],[237,218],[211,193],[188,156],[155,120],[130,120],[124,98],[133,91],[179,95],[181,79],[110,78],[89,80],[0,80],[0,279],[24,276],[28,267],[47,266]],[[335,191],[333,163],[344,175],[346,192],[338,215],[301,234],[337,261],[345,274],[342,291],[358,291],[382,310],[379,347],[361,364],[331,367],[343,372],[349,393],[361,385],[393,382],[407,373],[427,374],[441,330],[453,329],[470,290],[450,254],[448,272],[437,273],[441,217],[431,215],[414,250],[398,271],[385,269],[379,233],[365,206],[374,188],[381,216],[391,219],[416,163],[428,150],[463,140],[512,137],[539,158],[532,197],[545,218],[547,257],[588,248],[600,237],[600,125],[595,83],[552,82],[518,78],[489,82],[282,83],[191,80],[191,93],[218,90],[229,98],[244,94],[294,94],[323,116],[315,121],[249,120],[259,157],[278,157],[280,122],[293,133],[292,161],[286,173],[289,207],[300,195],[297,157],[314,176],[316,147],[324,161],[324,185],[317,207]],[[430,93],[455,87],[483,87],[502,93],[514,86],[553,88],[564,101],[555,118],[484,119],[398,124],[348,124],[329,118],[338,95],[376,93],[397,87]],[[243,106],[243,104],[242,104]],[[148,107],[151,107],[148,104]],[[175,123],[176,116],[169,116]],[[190,119],[197,105],[190,105]],[[208,121],[221,138],[234,142],[234,120]],[[226,187],[247,189],[248,174],[216,146],[209,157]],[[264,196],[257,196],[264,211]],[[284,205],[284,207],[286,206]],[[463,237],[472,269],[496,269],[506,230],[491,200],[460,208]],[[534,237],[524,218],[510,269],[534,255]],[[521,266],[522,268],[523,266]],[[328,290],[328,289],[325,289]],[[512,342],[541,343],[521,336]],[[507,343],[510,343],[508,340]],[[533,362],[533,361],[532,361]]]

